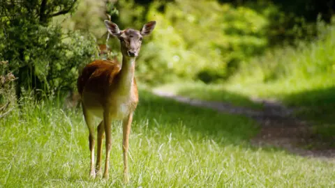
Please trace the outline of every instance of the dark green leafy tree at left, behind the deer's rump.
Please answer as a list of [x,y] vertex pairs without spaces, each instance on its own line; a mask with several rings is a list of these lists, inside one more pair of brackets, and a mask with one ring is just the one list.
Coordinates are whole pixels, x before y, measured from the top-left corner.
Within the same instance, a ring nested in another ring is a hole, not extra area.
[[1,3],[5,13],[0,33],[0,58],[9,60],[22,89],[53,92],[72,89],[77,69],[96,54],[94,40],[79,31],[64,33],[49,25],[52,17],[71,13],[75,1],[8,1]]

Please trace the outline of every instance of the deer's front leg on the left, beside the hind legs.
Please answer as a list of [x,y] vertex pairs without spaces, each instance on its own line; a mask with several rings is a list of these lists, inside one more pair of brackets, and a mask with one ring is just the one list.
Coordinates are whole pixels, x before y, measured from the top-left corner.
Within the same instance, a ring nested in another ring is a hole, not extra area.
[[108,110],[103,111],[103,125],[105,127],[106,134],[106,161],[105,161],[105,172],[103,173],[103,178],[108,179],[108,169],[110,166],[110,149],[112,148],[112,120],[110,118],[110,113]]

